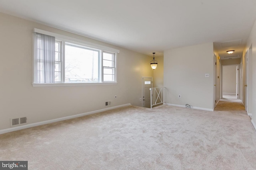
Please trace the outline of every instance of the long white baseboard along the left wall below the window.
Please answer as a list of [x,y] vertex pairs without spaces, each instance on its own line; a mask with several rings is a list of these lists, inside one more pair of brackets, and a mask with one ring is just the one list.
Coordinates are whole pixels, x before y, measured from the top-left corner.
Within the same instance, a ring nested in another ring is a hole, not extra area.
[[108,108],[105,108],[105,109],[89,111],[89,112],[81,113],[81,114],[77,114],[77,115],[60,117],[58,119],[52,119],[52,120],[41,121],[41,122],[37,122],[37,123],[26,124],[26,125],[22,125],[22,126],[11,127],[11,128],[8,128],[8,129],[2,129],[2,130],[0,130],[0,134],[12,132],[12,131],[18,131],[18,130],[21,130],[21,129],[26,129],[26,128],[35,127],[35,126],[45,125],[45,124],[48,124],[48,123],[54,123],[54,122],[57,122],[57,121],[73,119],[73,118],[81,117],[81,116],[85,116],[85,115],[91,115],[91,114],[94,114],[94,113],[99,113],[99,112],[102,112],[102,111],[116,109],[116,108],[124,107],[124,106],[131,106],[131,104],[123,104],[123,105],[119,105],[119,106],[108,107]]

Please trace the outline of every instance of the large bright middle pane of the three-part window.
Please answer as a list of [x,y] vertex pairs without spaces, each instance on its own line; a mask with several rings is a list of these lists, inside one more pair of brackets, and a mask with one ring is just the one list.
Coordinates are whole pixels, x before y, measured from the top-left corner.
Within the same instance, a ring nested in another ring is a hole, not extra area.
[[98,82],[99,51],[65,45],[65,82]]

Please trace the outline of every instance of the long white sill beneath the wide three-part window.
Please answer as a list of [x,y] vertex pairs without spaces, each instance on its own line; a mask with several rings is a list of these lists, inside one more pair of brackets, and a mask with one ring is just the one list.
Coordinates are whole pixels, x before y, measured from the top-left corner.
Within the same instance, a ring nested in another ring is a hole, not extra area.
[[117,82],[109,83],[32,83],[33,87],[60,87],[60,86],[101,86],[115,85]]

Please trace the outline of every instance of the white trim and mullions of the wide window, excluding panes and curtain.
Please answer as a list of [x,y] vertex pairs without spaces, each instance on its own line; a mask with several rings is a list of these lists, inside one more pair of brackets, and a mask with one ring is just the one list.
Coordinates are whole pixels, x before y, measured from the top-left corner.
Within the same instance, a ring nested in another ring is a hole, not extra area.
[[[40,83],[36,83],[36,67],[35,67],[35,56],[36,56],[36,51],[35,51],[35,38],[33,38],[33,45],[34,45],[34,48],[33,48],[33,78],[32,78],[32,85],[33,87],[45,87],[45,86],[87,86],[87,85],[111,85],[111,84],[117,84],[117,68],[116,68],[116,63],[117,63],[117,53],[119,53],[120,51],[118,49],[114,49],[114,48],[111,48],[111,47],[106,47],[106,46],[103,46],[103,45],[98,45],[98,44],[95,44],[95,43],[90,43],[88,41],[83,41],[81,39],[76,39],[76,38],[72,38],[72,37],[68,37],[68,36],[65,36],[65,35],[60,35],[60,34],[57,34],[57,33],[52,33],[52,32],[49,32],[49,31],[44,31],[42,29],[37,29],[37,28],[34,28],[34,33],[42,33],[42,34],[45,34],[45,35],[50,35],[50,36],[54,36],[56,37],[56,40],[59,40],[59,41],[62,41],[63,42],[67,42],[67,43],[74,43],[74,44],[77,44],[77,45],[81,45],[81,46],[86,46],[90,49],[96,49],[96,50],[100,50],[101,53],[100,55],[103,55],[103,52],[106,52],[106,53],[114,53],[115,54],[115,80],[114,82],[104,82],[103,81],[103,72],[102,74],[99,75],[99,78],[101,78],[101,82],[92,82],[92,83],[70,83],[70,82],[63,82],[63,74],[62,74],[62,82],[57,82],[57,83],[43,83],[43,84],[40,84]],[[65,50],[65,47],[64,45],[62,45],[62,52]],[[62,53],[62,64],[64,63],[64,60],[65,60],[65,56],[64,54]],[[102,56],[101,56],[102,58]],[[101,59],[102,60],[102,59]],[[102,65],[102,61],[99,61],[99,64],[103,67]],[[65,68],[65,66],[63,65],[62,66],[62,72],[65,71],[63,70]],[[103,70],[102,70],[103,71]]]

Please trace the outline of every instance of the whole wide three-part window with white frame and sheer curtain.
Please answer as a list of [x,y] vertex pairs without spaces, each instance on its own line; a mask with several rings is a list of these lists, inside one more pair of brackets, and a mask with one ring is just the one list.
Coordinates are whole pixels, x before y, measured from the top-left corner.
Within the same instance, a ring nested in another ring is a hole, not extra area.
[[33,86],[116,82],[118,50],[40,29],[34,40]]

